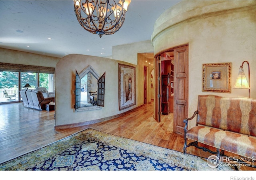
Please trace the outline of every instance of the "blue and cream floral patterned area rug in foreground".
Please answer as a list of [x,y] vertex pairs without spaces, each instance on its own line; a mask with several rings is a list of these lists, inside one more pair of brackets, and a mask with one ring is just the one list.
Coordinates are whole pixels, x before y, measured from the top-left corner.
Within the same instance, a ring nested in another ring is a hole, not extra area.
[[206,159],[87,129],[0,164],[0,170],[234,170]]

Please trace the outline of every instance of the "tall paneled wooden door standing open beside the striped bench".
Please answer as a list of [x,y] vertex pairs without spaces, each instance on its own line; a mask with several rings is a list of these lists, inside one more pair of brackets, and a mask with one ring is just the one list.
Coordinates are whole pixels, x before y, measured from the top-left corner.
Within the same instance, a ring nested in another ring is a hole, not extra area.
[[184,134],[188,117],[188,46],[174,49],[174,132]]

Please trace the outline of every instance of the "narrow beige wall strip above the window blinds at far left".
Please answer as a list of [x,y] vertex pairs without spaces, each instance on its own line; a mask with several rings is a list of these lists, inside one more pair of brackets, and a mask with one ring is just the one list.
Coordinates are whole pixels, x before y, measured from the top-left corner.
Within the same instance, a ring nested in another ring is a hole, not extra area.
[[0,48],[0,62],[55,68],[60,58]]

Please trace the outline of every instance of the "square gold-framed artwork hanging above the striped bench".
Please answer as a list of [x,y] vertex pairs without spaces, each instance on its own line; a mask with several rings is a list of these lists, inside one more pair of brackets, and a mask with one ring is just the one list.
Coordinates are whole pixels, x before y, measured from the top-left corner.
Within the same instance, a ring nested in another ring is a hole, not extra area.
[[230,93],[231,62],[203,64],[203,92]]

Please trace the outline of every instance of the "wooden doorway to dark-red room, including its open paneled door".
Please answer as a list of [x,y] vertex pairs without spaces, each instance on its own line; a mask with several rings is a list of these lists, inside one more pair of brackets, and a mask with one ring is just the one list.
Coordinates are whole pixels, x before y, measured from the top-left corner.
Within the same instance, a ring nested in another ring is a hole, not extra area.
[[173,112],[173,129],[184,134],[184,118],[188,117],[188,45],[171,48],[155,56],[154,118]]

